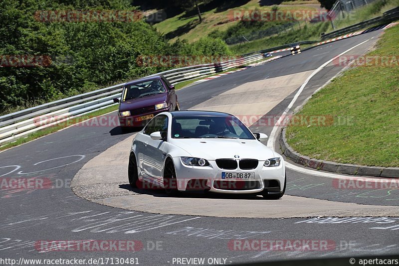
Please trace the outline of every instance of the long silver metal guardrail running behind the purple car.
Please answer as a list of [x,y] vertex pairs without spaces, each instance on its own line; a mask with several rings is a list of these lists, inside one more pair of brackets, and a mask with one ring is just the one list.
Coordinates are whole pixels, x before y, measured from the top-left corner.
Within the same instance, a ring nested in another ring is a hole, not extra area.
[[[173,85],[262,59],[254,54],[217,64],[204,64],[172,69],[151,76],[164,75]],[[125,83],[124,83],[125,84]],[[96,90],[0,117],[0,145],[39,131],[56,123],[67,121],[87,112],[115,105],[113,99],[120,98],[124,84]]]

